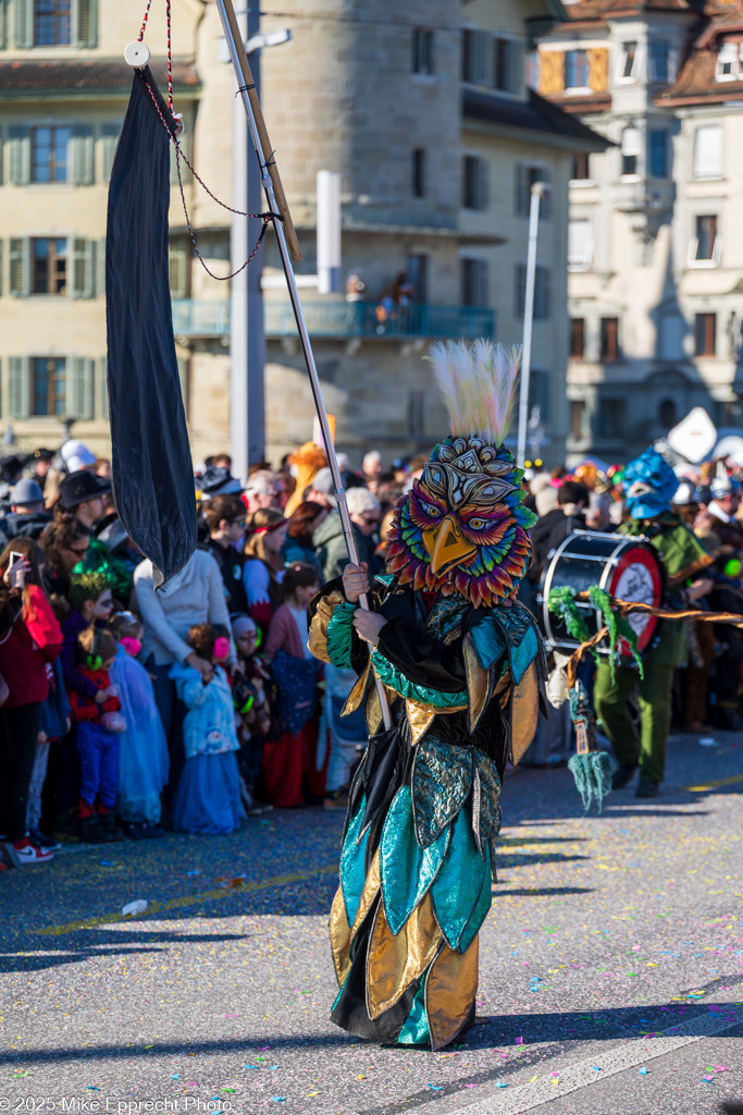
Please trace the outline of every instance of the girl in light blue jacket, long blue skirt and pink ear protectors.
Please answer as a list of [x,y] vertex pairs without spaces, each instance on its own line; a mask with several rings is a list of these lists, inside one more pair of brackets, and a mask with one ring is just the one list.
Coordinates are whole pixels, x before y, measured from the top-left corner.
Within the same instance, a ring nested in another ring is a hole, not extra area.
[[183,725],[186,763],[173,799],[173,827],[192,833],[231,833],[245,816],[235,752],[235,706],[224,662],[229,640],[211,623],[190,628],[186,642],[214,667],[211,681],[176,662],[170,677],[188,708]]

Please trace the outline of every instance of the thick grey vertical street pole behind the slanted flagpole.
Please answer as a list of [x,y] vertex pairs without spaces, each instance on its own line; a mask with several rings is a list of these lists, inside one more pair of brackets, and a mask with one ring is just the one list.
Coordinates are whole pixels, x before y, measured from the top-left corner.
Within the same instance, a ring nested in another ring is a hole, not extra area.
[[[255,7],[241,12],[239,31],[244,40],[260,31],[261,12]],[[256,51],[252,65],[253,81],[260,93],[261,60]],[[235,98],[233,108],[233,197],[235,207],[248,213],[261,211],[261,176],[251,155],[243,108]],[[258,222],[233,215],[231,231],[232,270],[237,271],[250,255],[258,235]],[[263,244],[250,268],[231,282],[231,389],[229,435],[235,476],[247,475],[248,465],[265,457],[265,400],[263,334]]]

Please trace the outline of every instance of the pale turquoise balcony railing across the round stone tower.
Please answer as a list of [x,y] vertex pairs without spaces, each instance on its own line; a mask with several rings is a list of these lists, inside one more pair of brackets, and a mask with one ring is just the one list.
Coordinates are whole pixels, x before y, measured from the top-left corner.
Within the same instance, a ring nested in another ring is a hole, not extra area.
[[[477,306],[397,306],[381,313],[375,302],[303,301],[311,337],[493,337],[493,310]],[[229,333],[229,302],[179,299],[173,302],[176,337],[223,337]],[[264,302],[266,337],[295,337],[289,302]]]

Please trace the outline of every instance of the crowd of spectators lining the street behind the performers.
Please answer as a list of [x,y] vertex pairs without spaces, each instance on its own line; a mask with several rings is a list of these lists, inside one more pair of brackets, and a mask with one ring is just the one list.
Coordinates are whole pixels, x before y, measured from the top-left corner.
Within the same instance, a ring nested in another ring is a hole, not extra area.
[[[383,568],[394,507],[426,458],[340,466],[356,547]],[[195,469],[199,542],[155,591],[118,518],[108,462],[80,442],[0,460],[0,844],[45,863],[63,841],[227,833],[276,808],[344,809],[365,743],[341,718],[355,677],[307,650],[307,602],[348,561],[324,452],[309,443],[245,482],[225,454]],[[743,614],[741,469],[680,471],[674,511],[714,555],[698,607]],[[528,475],[535,608],[550,555],[576,529],[616,531],[622,468]],[[741,724],[743,636],[686,624],[676,716]],[[569,730],[532,762],[563,762]],[[2,870],[0,860],[0,870]]]

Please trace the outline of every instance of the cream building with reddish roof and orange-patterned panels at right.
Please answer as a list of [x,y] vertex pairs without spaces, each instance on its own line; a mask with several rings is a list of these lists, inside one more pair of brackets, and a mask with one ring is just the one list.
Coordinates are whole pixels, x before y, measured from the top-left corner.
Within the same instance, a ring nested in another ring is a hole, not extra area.
[[612,140],[570,181],[570,459],[627,459],[693,406],[741,425],[743,6],[576,0],[541,93]]

